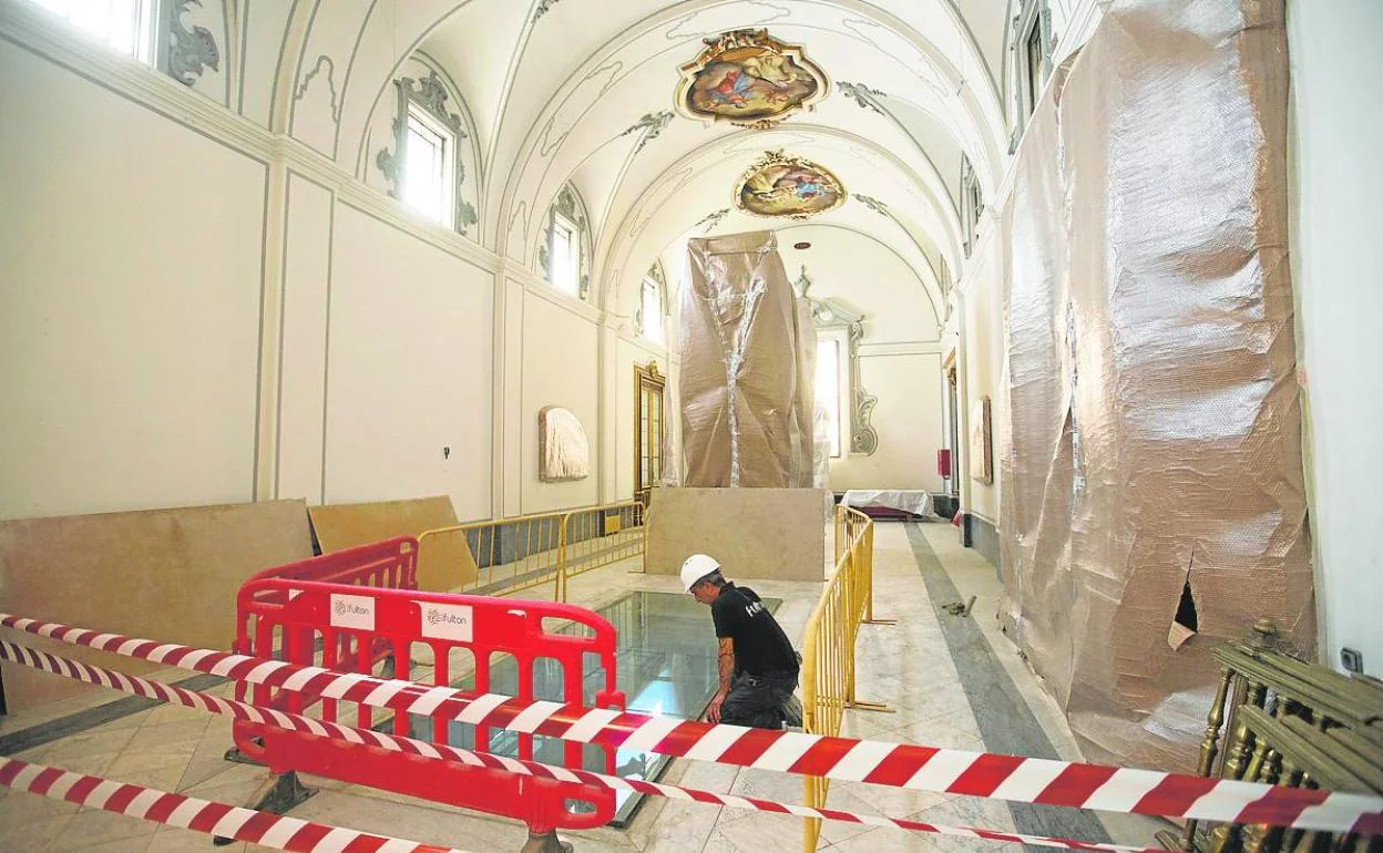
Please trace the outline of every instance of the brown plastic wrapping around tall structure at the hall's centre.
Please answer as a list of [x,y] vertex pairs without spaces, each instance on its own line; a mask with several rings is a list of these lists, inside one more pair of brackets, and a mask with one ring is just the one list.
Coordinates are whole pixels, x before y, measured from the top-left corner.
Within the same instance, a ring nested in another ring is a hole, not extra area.
[[682,485],[810,487],[815,332],[799,326],[777,238],[697,238],[687,260]]

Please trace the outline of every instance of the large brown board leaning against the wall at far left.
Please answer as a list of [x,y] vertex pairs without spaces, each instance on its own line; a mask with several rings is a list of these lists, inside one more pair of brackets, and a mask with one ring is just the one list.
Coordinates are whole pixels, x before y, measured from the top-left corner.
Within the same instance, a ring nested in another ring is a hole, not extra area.
[[[0,523],[0,610],[95,630],[230,648],[245,578],[313,556],[301,500]],[[123,672],[124,658],[0,629],[7,639]],[[113,662],[112,662],[113,661]],[[91,690],[4,664],[6,702],[26,711]]]

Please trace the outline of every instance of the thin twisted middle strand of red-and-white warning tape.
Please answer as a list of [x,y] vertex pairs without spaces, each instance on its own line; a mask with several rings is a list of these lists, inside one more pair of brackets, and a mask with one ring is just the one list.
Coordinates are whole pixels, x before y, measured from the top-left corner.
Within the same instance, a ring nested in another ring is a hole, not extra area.
[[101,666],[82,664],[79,661],[72,661],[61,655],[54,655],[17,643],[10,643],[7,640],[0,640],[0,659],[12,661],[15,664],[30,666],[41,672],[62,675],[69,679],[86,682],[89,684],[102,684],[105,687],[112,687],[123,693],[160,700],[165,702],[174,702],[178,705],[184,705],[187,708],[209,711],[212,713],[221,713],[232,716],[239,720],[249,720],[252,723],[267,723],[271,726],[286,729],[289,731],[303,731],[321,737],[335,737],[351,744],[378,747],[380,749],[387,749],[390,752],[401,752],[429,759],[458,760],[474,767],[491,767],[495,770],[506,770],[523,776],[550,778],[564,782],[581,782],[614,791],[636,791],[639,794],[667,796],[669,799],[708,803],[714,806],[727,806],[732,809],[769,812],[774,814],[795,814],[799,817],[816,817],[823,820],[869,824],[875,827],[893,827],[898,829],[932,832],[938,835],[985,838],[989,841],[1007,841],[1007,842],[1018,842],[1018,843],[1036,845],[1044,847],[1061,847],[1068,850],[1108,850],[1111,853],[1162,853],[1160,850],[1149,847],[1083,842],[1066,838],[1048,838],[1043,835],[1019,835],[1015,832],[981,829],[975,827],[946,827],[940,824],[927,824],[906,818],[895,818],[895,817],[885,817],[875,814],[855,814],[852,812],[841,812],[837,809],[812,809],[809,806],[799,806],[792,803],[776,803],[772,800],[758,799],[752,796],[716,794],[714,791],[703,791],[698,788],[683,788],[680,785],[649,782],[636,778],[620,778],[617,776],[606,776],[603,773],[592,773],[589,770],[553,767],[550,765],[541,765],[538,762],[527,762],[501,755],[477,753],[477,752],[470,752],[467,749],[459,749],[456,747],[451,747],[447,744],[429,744],[426,741],[400,737],[394,734],[386,734],[383,731],[375,731],[372,729],[355,729],[353,726],[342,726],[339,723],[315,720],[313,718],[285,711],[274,711],[260,705],[249,705],[246,702],[239,702],[235,700],[223,700],[219,697],[206,695],[203,693],[196,693],[192,690],[184,690],[181,687],[173,687],[170,684],[163,684],[162,682],[141,679],[138,676],[113,672],[109,669],[104,669]]

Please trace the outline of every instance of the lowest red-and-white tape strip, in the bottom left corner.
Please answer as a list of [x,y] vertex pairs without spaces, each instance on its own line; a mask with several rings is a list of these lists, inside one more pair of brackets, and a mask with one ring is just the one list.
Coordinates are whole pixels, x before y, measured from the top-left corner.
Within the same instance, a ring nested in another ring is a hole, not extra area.
[[0,785],[295,853],[465,853],[0,756]]

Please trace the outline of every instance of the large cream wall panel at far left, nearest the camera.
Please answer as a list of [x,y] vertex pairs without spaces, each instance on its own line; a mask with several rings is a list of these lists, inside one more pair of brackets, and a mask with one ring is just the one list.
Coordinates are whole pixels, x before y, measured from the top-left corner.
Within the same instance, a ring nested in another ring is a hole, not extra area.
[[0,518],[250,499],[266,165],[6,40],[0,104]]

